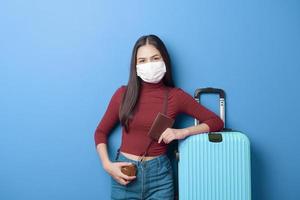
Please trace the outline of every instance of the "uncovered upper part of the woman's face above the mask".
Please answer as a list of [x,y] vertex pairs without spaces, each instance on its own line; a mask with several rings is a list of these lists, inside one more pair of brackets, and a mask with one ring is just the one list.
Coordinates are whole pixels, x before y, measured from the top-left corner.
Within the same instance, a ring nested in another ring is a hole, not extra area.
[[160,52],[151,44],[141,46],[137,50],[136,64],[143,64],[147,62],[156,62],[163,60]]

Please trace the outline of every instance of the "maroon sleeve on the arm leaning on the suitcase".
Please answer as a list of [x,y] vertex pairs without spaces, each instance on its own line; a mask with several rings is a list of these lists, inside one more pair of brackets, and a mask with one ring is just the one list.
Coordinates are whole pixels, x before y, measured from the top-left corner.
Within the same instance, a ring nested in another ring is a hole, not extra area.
[[223,128],[223,120],[218,115],[198,103],[191,95],[181,88],[176,89],[179,112],[198,119],[200,123],[207,124],[210,128],[210,132],[220,131]]

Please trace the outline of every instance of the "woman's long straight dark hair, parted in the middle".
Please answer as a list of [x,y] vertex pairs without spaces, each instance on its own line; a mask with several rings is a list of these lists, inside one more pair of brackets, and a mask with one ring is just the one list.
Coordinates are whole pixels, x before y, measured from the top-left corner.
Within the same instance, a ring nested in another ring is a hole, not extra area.
[[126,132],[129,131],[129,120],[133,115],[135,105],[139,99],[141,79],[136,75],[136,55],[139,47],[151,44],[161,54],[163,61],[166,65],[166,74],[163,77],[163,83],[169,87],[175,87],[172,79],[171,61],[166,46],[162,40],[156,35],[144,35],[141,36],[135,43],[131,56],[130,74],[126,87],[126,91],[123,95],[122,104],[119,111],[119,118],[121,125],[125,127]]

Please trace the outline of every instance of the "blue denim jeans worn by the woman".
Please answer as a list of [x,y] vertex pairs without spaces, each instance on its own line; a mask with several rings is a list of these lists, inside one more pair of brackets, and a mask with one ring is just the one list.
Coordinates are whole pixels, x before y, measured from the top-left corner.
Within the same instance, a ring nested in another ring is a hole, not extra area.
[[166,154],[141,163],[120,153],[118,161],[136,164],[137,174],[127,185],[111,177],[111,199],[174,199],[173,169]]

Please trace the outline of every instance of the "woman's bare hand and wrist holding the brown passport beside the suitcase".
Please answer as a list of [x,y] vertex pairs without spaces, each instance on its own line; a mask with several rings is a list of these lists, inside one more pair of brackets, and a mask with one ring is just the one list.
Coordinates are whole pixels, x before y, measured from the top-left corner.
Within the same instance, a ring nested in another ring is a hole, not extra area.
[[168,144],[173,140],[184,139],[186,135],[187,135],[187,130],[185,129],[167,128],[159,137],[158,143],[164,141],[164,143]]

